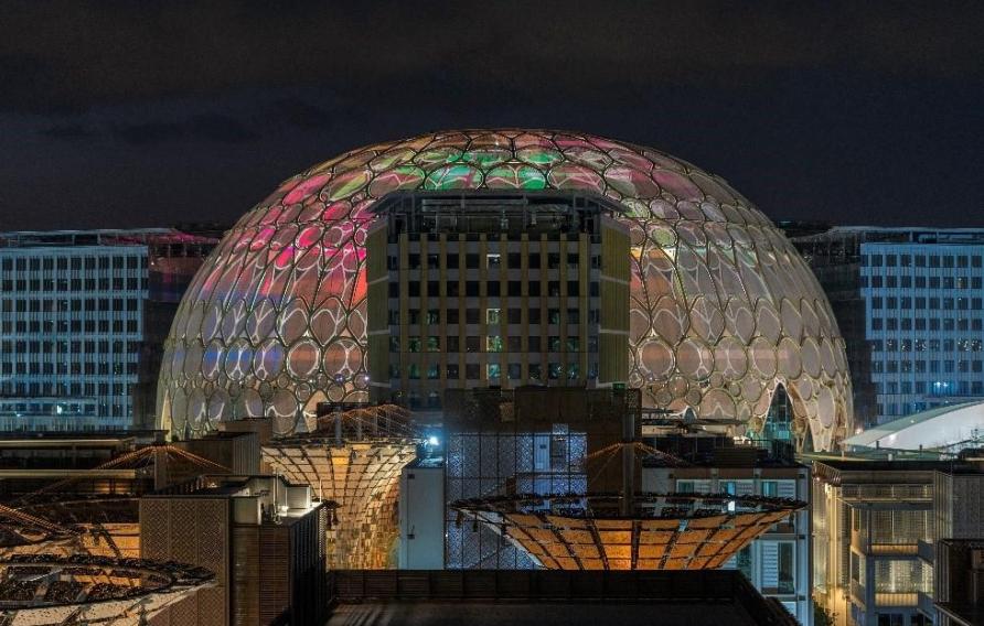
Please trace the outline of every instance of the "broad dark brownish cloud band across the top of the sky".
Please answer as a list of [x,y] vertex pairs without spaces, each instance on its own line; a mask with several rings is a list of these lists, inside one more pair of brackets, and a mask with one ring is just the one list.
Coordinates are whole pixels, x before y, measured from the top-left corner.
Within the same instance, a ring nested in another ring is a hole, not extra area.
[[85,108],[317,83],[393,98],[395,77],[441,72],[452,87],[469,77],[542,94],[753,84],[815,67],[980,76],[984,65],[984,4],[975,2],[301,6],[9,0],[0,76],[18,88],[0,106]]

